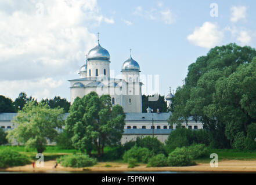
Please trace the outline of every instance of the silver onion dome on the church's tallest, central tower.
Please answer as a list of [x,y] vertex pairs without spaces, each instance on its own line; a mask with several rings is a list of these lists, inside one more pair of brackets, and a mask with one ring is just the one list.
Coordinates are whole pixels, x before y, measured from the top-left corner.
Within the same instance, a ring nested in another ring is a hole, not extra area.
[[87,60],[110,60],[109,51],[104,49],[100,44],[98,46],[93,47],[87,55]]

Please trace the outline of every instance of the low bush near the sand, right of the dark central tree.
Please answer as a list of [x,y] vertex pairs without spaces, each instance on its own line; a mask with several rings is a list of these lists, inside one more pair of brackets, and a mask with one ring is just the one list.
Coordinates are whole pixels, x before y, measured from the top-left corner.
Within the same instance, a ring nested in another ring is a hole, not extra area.
[[136,162],[147,163],[149,158],[152,156],[153,152],[149,151],[149,149],[138,147],[135,145],[130,150],[126,151],[122,158],[125,162],[128,162],[129,159],[134,158]]

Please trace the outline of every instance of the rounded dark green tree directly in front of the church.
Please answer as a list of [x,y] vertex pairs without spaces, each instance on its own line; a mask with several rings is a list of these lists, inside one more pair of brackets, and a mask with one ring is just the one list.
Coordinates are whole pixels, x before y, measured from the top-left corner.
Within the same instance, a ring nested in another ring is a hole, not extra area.
[[109,95],[99,98],[96,92],[90,92],[83,98],[75,98],[70,106],[65,129],[72,135],[71,140],[75,148],[86,150],[86,153],[91,155],[94,146],[100,158],[104,146],[120,145],[124,119],[122,107],[112,107]]

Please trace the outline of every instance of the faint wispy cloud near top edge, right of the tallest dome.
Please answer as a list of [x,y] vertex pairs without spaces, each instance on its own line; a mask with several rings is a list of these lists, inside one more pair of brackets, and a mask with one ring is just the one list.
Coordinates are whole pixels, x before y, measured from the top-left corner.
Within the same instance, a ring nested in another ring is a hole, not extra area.
[[169,8],[164,8],[161,2],[157,3],[156,8],[150,10],[143,10],[141,6],[137,6],[134,14],[148,20],[163,21],[165,24],[175,23],[176,20],[175,14]]

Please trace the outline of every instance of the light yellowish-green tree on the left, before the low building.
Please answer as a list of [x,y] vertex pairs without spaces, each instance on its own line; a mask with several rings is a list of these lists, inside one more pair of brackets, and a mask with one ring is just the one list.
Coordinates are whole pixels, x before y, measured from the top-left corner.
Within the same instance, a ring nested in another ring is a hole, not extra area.
[[58,135],[56,128],[62,128],[63,113],[63,109],[51,109],[45,103],[37,105],[30,101],[15,117],[15,129],[8,133],[8,138],[42,153],[47,140],[55,141]]

